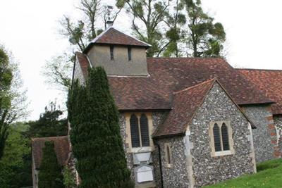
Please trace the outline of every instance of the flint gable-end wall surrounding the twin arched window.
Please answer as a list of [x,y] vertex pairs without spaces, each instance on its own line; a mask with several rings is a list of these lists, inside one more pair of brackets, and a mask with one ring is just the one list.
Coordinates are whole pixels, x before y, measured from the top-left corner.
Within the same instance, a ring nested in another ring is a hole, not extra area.
[[[231,123],[235,153],[212,157],[209,123],[221,120],[229,120]],[[190,125],[192,142],[190,151],[195,187],[214,184],[245,173],[255,173],[252,137],[248,126],[249,123],[243,113],[223,92],[219,84],[215,84]]]

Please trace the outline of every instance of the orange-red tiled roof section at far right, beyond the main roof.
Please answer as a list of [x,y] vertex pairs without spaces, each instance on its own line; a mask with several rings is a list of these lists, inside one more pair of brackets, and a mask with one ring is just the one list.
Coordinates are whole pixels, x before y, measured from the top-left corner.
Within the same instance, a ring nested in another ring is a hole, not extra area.
[[282,70],[238,69],[238,72],[276,102],[271,105],[275,115],[282,114]]

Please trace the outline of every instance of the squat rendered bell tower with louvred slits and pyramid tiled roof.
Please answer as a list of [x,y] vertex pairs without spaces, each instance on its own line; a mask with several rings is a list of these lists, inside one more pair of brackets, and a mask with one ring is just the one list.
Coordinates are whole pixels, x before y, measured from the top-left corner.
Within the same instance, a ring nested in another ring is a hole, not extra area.
[[87,46],[92,66],[103,66],[107,75],[147,76],[149,44],[109,27]]

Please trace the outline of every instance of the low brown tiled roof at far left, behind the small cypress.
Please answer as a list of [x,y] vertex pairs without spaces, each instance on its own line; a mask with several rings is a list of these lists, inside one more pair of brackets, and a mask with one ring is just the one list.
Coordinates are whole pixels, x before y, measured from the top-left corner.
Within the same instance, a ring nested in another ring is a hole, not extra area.
[[32,155],[35,160],[35,169],[39,169],[40,167],[42,161],[42,148],[47,141],[54,141],[54,149],[58,161],[61,165],[66,165],[68,162],[68,154],[70,153],[68,136],[34,138],[32,139]]

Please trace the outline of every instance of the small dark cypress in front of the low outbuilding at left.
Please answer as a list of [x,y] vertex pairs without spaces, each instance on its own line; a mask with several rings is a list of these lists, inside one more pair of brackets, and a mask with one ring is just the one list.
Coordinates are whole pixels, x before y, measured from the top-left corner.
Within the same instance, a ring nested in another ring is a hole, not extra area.
[[45,142],[42,162],[38,175],[39,188],[62,188],[63,175],[54,150],[54,142]]

